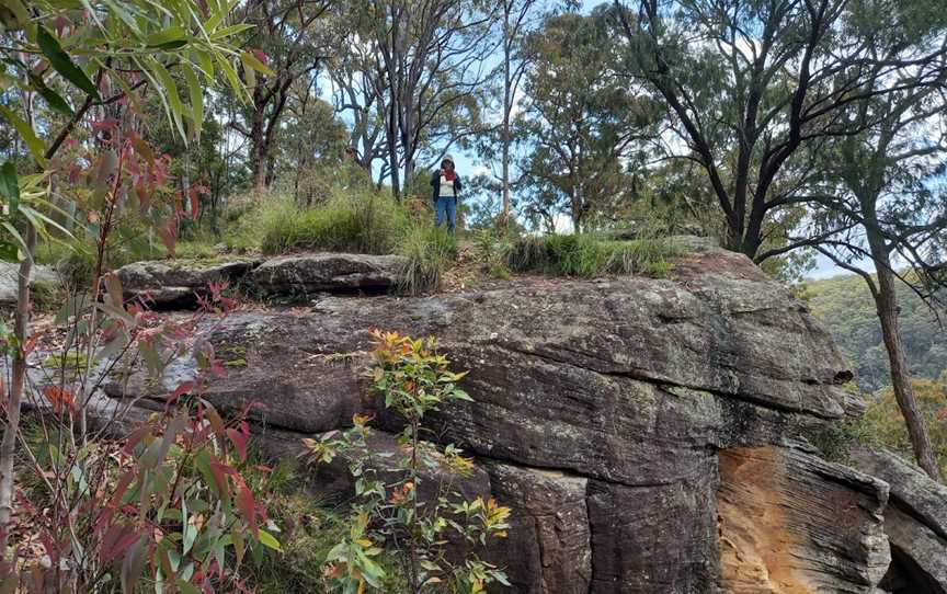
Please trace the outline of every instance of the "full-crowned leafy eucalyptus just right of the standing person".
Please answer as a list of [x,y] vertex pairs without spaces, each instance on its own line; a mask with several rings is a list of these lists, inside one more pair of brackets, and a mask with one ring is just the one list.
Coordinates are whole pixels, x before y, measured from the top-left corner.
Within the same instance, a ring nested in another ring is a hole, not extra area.
[[597,15],[575,13],[547,18],[527,41],[533,67],[515,123],[526,149],[521,184],[541,204],[540,218],[558,204],[577,231],[628,199],[638,142],[654,134],[653,102],[611,68],[613,41]]

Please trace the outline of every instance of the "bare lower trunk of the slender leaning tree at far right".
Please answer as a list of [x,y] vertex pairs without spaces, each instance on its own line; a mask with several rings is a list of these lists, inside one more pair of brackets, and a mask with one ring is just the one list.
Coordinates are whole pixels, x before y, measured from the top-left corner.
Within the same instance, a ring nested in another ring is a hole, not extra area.
[[888,351],[888,363],[891,367],[891,387],[894,390],[894,399],[904,415],[904,424],[908,426],[908,435],[911,438],[911,447],[917,465],[927,475],[943,482],[940,467],[934,456],[931,438],[927,435],[927,426],[917,408],[917,398],[904,357],[904,345],[901,342],[901,331],[898,324],[898,297],[895,294],[894,274],[891,272],[891,262],[883,239],[878,237],[877,231],[868,229],[868,243],[871,248],[871,256],[876,262],[878,275],[878,290],[875,294],[875,307],[878,311],[878,320],[881,322],[881,336],[885,349]]

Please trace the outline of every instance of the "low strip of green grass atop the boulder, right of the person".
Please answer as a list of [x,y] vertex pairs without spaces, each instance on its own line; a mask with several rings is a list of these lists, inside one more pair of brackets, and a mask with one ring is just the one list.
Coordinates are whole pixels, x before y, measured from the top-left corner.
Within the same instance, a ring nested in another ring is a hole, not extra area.
[[506,265],[517,272],[556,276],[637,274],[665,277],[669,259],[680,248],[662,239],[609,240],[594,235],[523,237],[506,250]]

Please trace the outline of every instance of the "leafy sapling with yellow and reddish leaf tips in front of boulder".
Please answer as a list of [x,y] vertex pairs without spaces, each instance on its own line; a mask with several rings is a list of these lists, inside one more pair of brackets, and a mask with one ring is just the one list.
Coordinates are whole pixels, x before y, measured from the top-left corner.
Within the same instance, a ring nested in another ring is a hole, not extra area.
[[395,454],[370,447],[370,418],[363,415],[355,415],[354,427],[344,433],[305,441],[317,462],[345,455],[355,478],[351,530],[329,552],[326,576],[345,594],[363,592],[366,585],[384,590],[386,573],[377,558],[388,545],[399,553],[412,594],[445,587],[476,594],[490,583],[510,585],[503,571],[476,553],[459,560],[447,555],[450,542],[471,550],[489,538],[505,537],[510,510],[492,498],[468,501],[454,492],[453,479],[468,476],[472,460],[453,445],[438,450],[421,438],[425,414],[452,401],[471,401],[457,387],[467,372],[452,372],[433,338],[373,331],[372,340],[375,366],[366,376],[406,426]]

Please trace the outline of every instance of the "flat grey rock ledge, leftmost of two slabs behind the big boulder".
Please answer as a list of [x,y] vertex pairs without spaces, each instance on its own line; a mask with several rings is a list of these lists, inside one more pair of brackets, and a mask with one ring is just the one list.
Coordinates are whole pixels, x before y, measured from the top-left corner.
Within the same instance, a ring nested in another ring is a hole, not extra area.
[[199,262],[186,260],[135,262],[122,266],[115,274],[122,282],[125,298],[141,298],[158,308],[190,307],[197,296],[207,292],[210,283],[241,278],[258,262],[232,260]]

